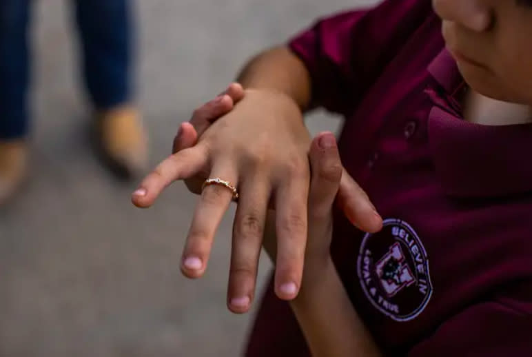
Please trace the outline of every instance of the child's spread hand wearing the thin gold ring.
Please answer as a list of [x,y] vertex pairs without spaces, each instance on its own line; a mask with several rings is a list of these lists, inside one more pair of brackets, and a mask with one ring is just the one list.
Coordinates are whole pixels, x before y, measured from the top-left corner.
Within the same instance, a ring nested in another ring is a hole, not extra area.
[[[137,191],[141,194],[133,197],[134,203],[149,207],[172,181],[194,176],[202,180],[207,175],[220,177],[238,185],[241,198],[234,221],[228,294],[229,308],[245,312],[254,296],[271,200],[276,208],[278,236],[276,294],[287,300],[294,298],[300,286],[307,237],[310,143],[298,106],[285,94],[248,90],[232,111],[205,127],[194,147],[176,152],[147,176]],[[360,187],[353,190],[354,181],[349,177],[346,180],[349,192],[340,201],[349,212],[347,216],[356,216],[368,227],[380,229],[382,221],[367,196]],[[183,252],[182,271],[186,276],[198,278],[205,272],[214,234],[231,198],[225,187],[210,185],[203,190]]]

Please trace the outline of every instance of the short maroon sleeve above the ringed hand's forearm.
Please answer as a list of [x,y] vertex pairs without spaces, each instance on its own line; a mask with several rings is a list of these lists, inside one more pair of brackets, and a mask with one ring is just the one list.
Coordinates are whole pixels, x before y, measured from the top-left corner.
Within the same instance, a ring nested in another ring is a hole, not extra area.
[[385,0],[318,20],[289,41],[312,81],[312,105],[347,114],[431,10],[429,0]]

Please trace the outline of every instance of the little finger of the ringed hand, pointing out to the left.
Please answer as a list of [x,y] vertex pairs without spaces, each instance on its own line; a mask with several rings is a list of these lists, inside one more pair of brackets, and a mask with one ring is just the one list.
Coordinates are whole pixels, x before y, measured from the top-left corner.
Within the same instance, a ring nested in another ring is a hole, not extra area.
[[150,207],[170,183],[194,176],[206,163],[207,153],[202,146],[170,155],[147,175],[139,188],[133,192],[133,204],[141,208]]

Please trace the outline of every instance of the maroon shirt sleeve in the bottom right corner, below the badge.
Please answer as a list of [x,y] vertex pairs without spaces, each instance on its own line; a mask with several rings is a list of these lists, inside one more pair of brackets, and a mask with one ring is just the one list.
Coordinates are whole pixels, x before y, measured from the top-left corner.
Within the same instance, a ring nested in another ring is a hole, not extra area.
[[532,356],[532,303],[480,303],[441,325],[409,357]]

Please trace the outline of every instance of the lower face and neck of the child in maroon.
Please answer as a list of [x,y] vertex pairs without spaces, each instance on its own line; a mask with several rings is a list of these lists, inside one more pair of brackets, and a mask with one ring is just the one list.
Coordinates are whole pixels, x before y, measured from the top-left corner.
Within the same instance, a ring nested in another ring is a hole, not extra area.
[[471,88],[466,119],[486,125],[531,121],[532,2],[432,2],[447,48]]

